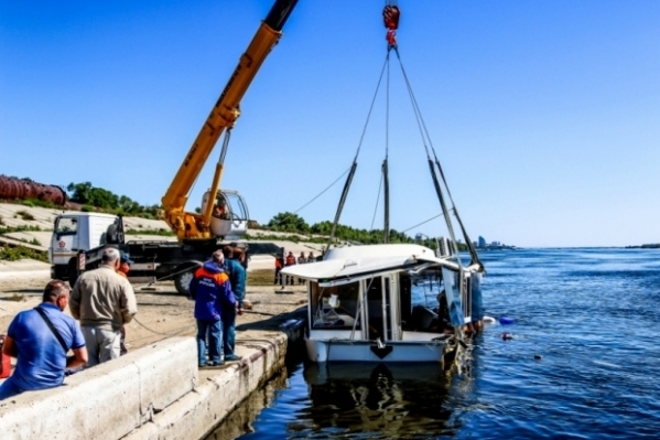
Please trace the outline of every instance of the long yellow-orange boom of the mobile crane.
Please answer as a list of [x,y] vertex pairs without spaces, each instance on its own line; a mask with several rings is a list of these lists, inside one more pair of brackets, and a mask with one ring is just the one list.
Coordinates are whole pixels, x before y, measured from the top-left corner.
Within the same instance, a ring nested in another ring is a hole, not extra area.
[[[282,28],[296,3],[297,0],[277,0],[274,2],[247,51],[240,56],[225,89],[210,110],[208,118],[202,126],[197,138],[162,198],[165,221],[172,227],[172,230],[176,233],[180,240],[213,238],[208,224],[209,216],[184,211],[188,194],[218,139],[238,119],[240,115],[239,104],[242,96],[261,64],[278,43],[282,35]],[[219,167],[220,169],[216,170],[214,179],[216,191],[219,184],[219,173],[221,172],[221,165]]]

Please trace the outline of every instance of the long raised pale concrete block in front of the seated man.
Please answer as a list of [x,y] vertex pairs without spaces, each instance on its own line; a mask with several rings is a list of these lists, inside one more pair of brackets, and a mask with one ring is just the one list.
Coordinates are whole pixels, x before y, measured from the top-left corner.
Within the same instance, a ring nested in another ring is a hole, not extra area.
[[119,439],[191,393],[196,343],[173,337],[0,403],[2,439]]

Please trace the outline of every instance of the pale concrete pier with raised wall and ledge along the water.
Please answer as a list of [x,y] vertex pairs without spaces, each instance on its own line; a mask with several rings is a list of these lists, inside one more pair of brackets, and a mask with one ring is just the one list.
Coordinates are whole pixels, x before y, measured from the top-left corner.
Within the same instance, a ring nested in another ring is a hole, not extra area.
[[0,401],[2,439],[199,439],[284,364],[302,320],[250,330],[239,362],[197,368],[193,337],[172,337]]

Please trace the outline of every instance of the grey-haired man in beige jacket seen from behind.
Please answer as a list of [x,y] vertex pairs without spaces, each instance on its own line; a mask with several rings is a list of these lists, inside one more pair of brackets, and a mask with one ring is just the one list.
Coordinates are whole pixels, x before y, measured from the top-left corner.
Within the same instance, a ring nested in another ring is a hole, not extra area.
[[89,354],[86,367],[120,356],[121,328],[138,313],[133,287],[117,273],[120,265],[119,249],[105,248],[100,267],[83,273],[72,291],[68,308],[80,321]]

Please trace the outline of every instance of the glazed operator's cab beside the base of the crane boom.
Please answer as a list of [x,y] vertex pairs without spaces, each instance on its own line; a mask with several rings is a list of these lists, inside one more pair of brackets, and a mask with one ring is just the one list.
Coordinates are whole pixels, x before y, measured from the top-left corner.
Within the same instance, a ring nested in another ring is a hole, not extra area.
[[248,205],[238,191],[221,190],[213,197],[210,191],[204,193],[202,212],[213,203],[210,232],[224,239],[239,239],[248,232]]

